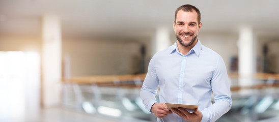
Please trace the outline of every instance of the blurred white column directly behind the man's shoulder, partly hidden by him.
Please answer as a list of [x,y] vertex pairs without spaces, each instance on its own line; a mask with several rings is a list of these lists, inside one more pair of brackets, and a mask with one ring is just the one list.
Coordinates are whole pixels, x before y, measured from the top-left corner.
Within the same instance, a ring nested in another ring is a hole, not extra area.
[[156,29],[155,35],[152,39],[152,45],[152,55],[171,45],[170,33],[167,27],[159,27]]

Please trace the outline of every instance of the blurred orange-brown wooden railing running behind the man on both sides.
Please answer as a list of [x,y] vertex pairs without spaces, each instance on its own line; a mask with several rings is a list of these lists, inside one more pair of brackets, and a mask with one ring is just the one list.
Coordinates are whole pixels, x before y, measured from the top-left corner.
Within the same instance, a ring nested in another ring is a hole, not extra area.
[[[146,74],[137,75],[104,75],[104,76],[86,76],[86,77],[71,77],[63,78],[62,82],[78,83],[78,84],[91,84],[94,83],[98,86],[121,86],[121,87],[141,87]],[[238,74],[229,74],[230,78],[237,79]],[[256,73],[252,76],[253,79],[258,80],[279,80],[279,74]],[[240,89],[262,89],[267,87],[279,87],[279,83],[273,84],[255,84],[251,86],[232,86],[231,90]]]

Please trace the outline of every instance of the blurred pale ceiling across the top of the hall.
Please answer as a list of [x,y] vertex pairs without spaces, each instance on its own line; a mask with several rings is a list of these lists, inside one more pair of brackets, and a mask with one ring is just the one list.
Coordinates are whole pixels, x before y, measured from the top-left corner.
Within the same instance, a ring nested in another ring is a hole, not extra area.
[[44,14],[61,17],[63,37],[150,35],[172,29],[177,7],[191,4],[202,14],[203,32],[237,33],[241,26],[277,36],[279,1],[0,0],[0,35],[41,35]]

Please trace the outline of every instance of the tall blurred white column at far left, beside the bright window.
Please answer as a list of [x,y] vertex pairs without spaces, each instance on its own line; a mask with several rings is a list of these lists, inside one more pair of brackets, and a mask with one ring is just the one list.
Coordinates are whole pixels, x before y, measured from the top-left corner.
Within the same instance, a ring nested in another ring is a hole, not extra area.
[[44,107],[60,104],[61,24],[58,16],[44,15],[42,20],[42,102]]

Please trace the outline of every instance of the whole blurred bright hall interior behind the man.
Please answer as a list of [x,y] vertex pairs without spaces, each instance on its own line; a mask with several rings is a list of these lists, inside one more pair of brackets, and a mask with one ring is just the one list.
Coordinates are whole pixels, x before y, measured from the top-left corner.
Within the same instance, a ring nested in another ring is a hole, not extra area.
[[0,0],[0,121],[156,121],[139,89],[184,4],[227,67],[233,106],[218,121],[278,121],[272,0]]

